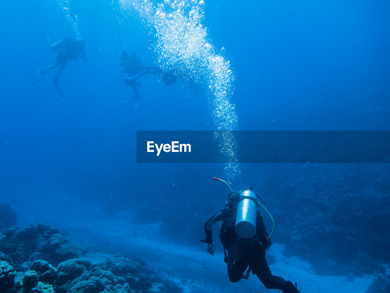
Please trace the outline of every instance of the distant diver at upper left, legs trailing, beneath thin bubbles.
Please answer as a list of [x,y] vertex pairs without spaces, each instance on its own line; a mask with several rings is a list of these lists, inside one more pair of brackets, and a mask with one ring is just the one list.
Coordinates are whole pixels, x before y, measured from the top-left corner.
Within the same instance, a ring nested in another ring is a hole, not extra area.
[[58,93],[64,98],[64,95],[58,87],[58,78],[60,77],[62,71],[64,71],[67,61],[72,61],[73,59],[77,61],[77,57],[84,59],[85,62],[88,61],[87,55],[84,52],[85,43],[81,40],[75,40],[72,37],[66,37],[58,41],[57,43],[50,46],[51,51],[55,52],[57,50],[57,58],[55,59],[54,64],[46,67],[45,69],[40,69],[38,72],[37,79],[35,79],[30,85],[35,84],[40,78],[41,75],[46,73],[49,70],[58,68],[57,74],[53,78],[54,86],[56,87]]

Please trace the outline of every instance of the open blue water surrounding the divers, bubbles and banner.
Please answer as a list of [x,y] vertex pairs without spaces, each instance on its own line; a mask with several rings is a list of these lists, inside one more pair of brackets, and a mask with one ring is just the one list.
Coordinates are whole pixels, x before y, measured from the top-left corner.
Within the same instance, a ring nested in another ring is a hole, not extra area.
[[[122,8],[116,1],[69,2],[1,5],[0,203],[16,209],[25,198],[70,193],[80,202],[96,202],[107,214],[115,214],[137,212],[143,206],[142,195],[147,194],[145,209],[152,201],[160,212],[140,222],[172,225],[167,214],[175,207],[167,202],[182,201],[194,203],[178,204],[183,218],[197,210],[207,218],[227,197],[227,190],[212,180],[213,176],[225,176],[224,164],[137,164],[135,152],[136,130],[215,129],[206,89],[200,86],[197,96],[180,81],[168,87],[148,75],[140,79],[147,92],[140,92],[139,100],[123,103],[134,94],[119,78],[121,68],[115,66],[119,53],[124,48],[136,51],[143,64],[156,65],[156,38],[145,28],[142,14]],[[69,8],[72,20],[60,4]],[[230,61],[235,77],[230,102],[236,106],[238,129],[390,130],[388,1],[214,0],[206,1],[202,9],[207,38],[216,52],[224,48],[223,57]],[[89,61],[68,62],[58,81],[66,97],[61,101],[52,84],[56,70],[43,75],[34,86],[29,84],[40,68],[55,60],[56,53],[49,46],[65,36],[85,41]],[[283,233],[298,229],[294,221],[317,223],[321,218],[301,213],[299,219],[289,222],[284,213],[316,210],[327,200],[345,202],[346,194],[353,194],[354,208],[337,205],[342,211],[332,214],[334,218],[329,218],[325,209],[326,223],[344,231],[342,235],[358,229],[364,238],[375,235],[376,243],[389,240],[387,164],[319,164],[310,168],[240,164],[239,171],[229,179],[233,189],[252,185],[262,193]],[[292,185],[295,189],[286,188]],[[324,198],[326,194],[333,196]],[[297,198],[292,199],[293,195]],[[137,200],[137,207],[129,198]],[[299,203],[291,204],[292,200]],[[367,202],[368,211],[362,208]],[[383,211],[375,215],[378,206]],[[336,216],[340,213],[341,222]],[[367,229],[364,221],[356,220],[366,213],[375,218]],[[187,218],[196,233],[184,235],[179,228],[176,234],[163,231],[185,243],[199,241],[204,237],[205,218]],[[385,221],[381,222],[383,229],[372,231],[379,221]],[[275,235],[275,242],[287,246],[291,239],[295,238]],[[193,245],[200,247],[198,242]],[[335,241],[335,245],[349,243]],[[315,259],[303,253],[301,245],[290,247],[291,254]],[[356,253],[340,263],[349,266],[358,257],[357,251],[372,259],[366,266],[390,261],[388,254],[378,253],[385,249],[384,244],[366,248],[358,245]],[[308,249],[313,247],[308,245]],[[319,250],[321,257],[337,261],[328,248]],[[335,267],[329,266],[332,269]]]

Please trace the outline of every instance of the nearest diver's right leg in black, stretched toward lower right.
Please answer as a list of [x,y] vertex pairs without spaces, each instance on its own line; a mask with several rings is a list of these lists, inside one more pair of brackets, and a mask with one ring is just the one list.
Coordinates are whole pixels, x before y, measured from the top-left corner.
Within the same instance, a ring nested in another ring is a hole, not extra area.
[[298,292],[293,283],[290,281],[286,281],[282,277],[272,275],[266,261],[265,250],[261,245],[258,245],[250,252],[248,263],[250,268],[252,268],[252,271],[264,284],[265,288],[282,290],[283,293]]

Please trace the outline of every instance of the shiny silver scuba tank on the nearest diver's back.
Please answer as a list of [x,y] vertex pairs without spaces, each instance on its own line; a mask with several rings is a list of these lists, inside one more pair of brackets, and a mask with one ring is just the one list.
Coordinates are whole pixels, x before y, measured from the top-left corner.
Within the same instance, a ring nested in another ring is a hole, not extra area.
[[252,238],[256,233],[257,198],[253,191],[245,190],[241,193],[244,198],[238,203],[235,230],[241,238]]

